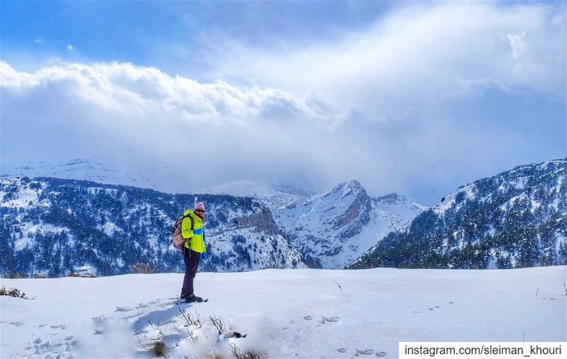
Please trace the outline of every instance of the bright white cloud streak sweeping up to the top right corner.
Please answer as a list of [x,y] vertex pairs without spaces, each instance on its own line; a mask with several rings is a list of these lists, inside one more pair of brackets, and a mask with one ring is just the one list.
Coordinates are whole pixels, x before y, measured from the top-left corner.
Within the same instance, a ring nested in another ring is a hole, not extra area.
[[[509,34],[518,35],[509,40]],[[306,47],[276,41],[254,47],[215,34],[208,61],[214,78],[309,91],[388,120],[409,107],[441,101],[464,89],[463,81],[476,79],[523,83],[563,98],[564,39],[565,20],[554,5],[410,4],[369,28]]]

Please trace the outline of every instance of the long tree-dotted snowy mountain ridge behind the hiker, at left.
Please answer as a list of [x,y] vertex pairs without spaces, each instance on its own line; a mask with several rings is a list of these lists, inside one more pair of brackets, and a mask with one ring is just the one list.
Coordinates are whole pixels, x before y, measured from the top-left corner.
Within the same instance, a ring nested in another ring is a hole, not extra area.
[[[182,270],[169,246],[172,224],[196,195],[57,178],[0,180],[0,273],[99,275]],[[203,270],[305,267],[268,207],[252,198],[198,195],[206,203],[208,260]]]

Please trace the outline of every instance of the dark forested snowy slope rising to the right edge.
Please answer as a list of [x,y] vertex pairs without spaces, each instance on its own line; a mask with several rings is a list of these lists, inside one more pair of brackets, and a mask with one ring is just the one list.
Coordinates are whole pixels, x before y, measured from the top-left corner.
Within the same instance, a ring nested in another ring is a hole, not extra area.
[[567,159],[518,166],[450,193],[349,268],[567,263]]

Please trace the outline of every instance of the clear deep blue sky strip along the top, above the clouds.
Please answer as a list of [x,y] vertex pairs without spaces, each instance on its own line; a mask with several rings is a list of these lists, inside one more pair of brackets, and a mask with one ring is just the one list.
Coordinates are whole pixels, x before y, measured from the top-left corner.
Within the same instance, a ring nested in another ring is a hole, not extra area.
[[[1,47],[6,61],[133,62],[203,78],[209,41],[228,35],[257,47],[320,42],[365,28],[386,1],[3,1]],[[69,51],[67,45],[73,47]],[[168,47],[184,47],[176,55]],[[214,80],[214,79],[212,79]]]

